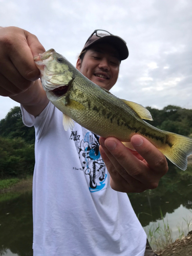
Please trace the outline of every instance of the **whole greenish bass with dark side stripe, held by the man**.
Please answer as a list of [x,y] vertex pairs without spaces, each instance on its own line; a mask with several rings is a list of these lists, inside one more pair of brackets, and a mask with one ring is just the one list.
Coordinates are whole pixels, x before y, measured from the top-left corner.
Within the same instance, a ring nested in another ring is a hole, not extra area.
[[155,145],[180,169],[187,168],[192,139],[162,131],[145,120],[153,120],[142,105],[120,99],[82,75],[65,57],[50,49],[34,57],[48,99],[63,113],[65,131],[74,121],[104,138],[115,137],[130,147],[139,134]]

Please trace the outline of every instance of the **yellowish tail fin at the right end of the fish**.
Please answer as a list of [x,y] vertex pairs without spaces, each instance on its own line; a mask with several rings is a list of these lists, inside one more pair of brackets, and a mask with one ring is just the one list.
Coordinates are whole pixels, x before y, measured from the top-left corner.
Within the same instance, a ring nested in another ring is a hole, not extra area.
[[192,154],[192,139],[175,133],[167,132],[166,147],[159,150],[180,169],[187,168],[187,157]]

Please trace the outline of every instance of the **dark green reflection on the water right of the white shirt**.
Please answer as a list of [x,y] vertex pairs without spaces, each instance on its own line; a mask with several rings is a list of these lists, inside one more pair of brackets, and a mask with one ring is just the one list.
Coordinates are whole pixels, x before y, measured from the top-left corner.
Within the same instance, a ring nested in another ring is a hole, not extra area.
[[143,193],[129,194],[130,201],[142,226],[151,221],[161,219],[168,212],[171,214],[182,204],[185,208],[192,206],[192,166],[183,171],[169,164],[168,173],[160,180],[155,190]]

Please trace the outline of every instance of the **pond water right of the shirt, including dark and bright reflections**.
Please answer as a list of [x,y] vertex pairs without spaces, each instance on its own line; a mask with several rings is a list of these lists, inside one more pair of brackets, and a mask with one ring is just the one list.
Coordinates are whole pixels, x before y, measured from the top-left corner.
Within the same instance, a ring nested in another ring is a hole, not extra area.
[[164,233],[166,236],[167,227],[173,242],[182,234],[186,236],[192,229],[191,191],[192,165],[182,171],[169,163],[169,171],[161,179],[158,188],[141,194],[129,194],[145,232],[147,235],[150,233],[150,241],[153,238],[151,235],[158,238]]

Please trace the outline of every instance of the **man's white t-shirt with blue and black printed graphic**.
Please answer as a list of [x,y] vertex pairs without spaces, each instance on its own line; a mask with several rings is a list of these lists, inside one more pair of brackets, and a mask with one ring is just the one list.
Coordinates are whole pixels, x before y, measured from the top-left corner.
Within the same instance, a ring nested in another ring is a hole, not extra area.
[[34,256],[143,256],[146,234],[125,193],[113,190],[100,157],[98,136],[75,123],[62,126],[50,102],[34,118]]

